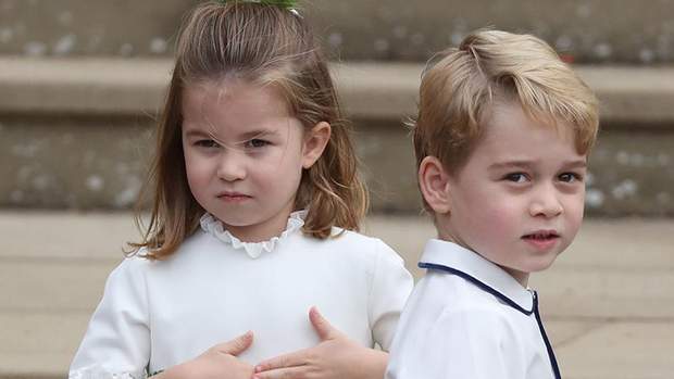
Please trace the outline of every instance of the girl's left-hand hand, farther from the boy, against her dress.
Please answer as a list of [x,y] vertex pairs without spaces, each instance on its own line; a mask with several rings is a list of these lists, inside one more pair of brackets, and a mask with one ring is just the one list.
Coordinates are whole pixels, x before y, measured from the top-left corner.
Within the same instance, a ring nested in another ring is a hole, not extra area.
[[236,356],[252,344],[252,332],[220,343],[198,357],[153,376],[157,379],[250,379],[253,367]]

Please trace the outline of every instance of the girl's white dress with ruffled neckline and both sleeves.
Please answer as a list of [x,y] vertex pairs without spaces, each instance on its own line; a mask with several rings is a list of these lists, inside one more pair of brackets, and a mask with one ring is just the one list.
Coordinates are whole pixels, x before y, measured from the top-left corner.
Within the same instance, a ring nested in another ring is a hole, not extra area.
[[292,213],[270,241],[244,243],[207,214],[168,260],[122,262],[70,378],[145,378],[248,330],[253,343],[239,357],[257,364],[319,342],[312,305],[354,341],[388,350],[413,285],[402,260],[352,231],[307,237],[302,217]]

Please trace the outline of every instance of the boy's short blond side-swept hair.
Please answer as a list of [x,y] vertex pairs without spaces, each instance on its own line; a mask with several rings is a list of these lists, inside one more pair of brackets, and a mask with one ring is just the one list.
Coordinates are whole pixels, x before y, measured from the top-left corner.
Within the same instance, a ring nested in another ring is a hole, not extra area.
[[[516,102],[546,124],[573,127],[582,154],[595,143],[597,99],[554,50],[531,35],[482,29],[437,54],[424,71],[419,114],[411,122],[416,166],[432,155],[457,174],[498,101]],[[425,200],[424,207],[430,211]]]

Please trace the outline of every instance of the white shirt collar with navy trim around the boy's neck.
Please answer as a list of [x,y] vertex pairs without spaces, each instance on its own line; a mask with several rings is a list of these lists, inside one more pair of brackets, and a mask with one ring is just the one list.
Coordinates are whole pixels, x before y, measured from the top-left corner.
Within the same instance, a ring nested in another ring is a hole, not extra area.
[[534,312],[534,296],[528,289],[495,263],[453,242],[429,240],[419,266],[451,271],[527,315]]

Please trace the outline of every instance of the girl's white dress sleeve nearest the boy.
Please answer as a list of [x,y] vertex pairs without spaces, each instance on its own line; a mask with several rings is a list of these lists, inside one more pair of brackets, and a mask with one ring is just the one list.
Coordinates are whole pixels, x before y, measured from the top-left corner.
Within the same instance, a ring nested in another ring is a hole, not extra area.
[[376,240],[377,256],[370,289],[370,328],[374,341],[388,351],[398,319],[412,292],[414,280],[402,258],[386,243]]

